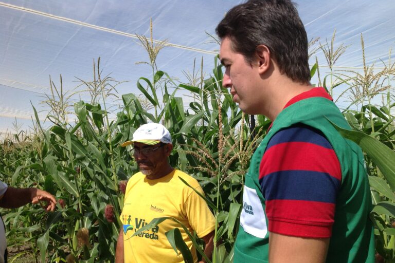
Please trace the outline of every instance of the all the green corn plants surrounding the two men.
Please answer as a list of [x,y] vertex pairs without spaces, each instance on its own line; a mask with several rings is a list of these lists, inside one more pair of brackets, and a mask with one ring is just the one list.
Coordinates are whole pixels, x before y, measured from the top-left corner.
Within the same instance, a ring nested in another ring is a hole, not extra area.
[[[376,251],[390,262],[395,258],[395,103],[391,94],[395,67],[389,63],[382,73],[374,75],[374,82],[369,81],[372,69],[368,68],[364,74],[354,75],[356,81],[353,82],[352,76],[333,70],[338,56],[346,49],[340,46],[334,50],[333,41],[334,35],[330,44],[320,46],[327,51],[331,69],[324,78],[324,87],[332,93],[342,85],[348,86],[342,95],[349,96],[353,95],[351,90],[359,87],[355,83],[366,80],[363,94],[369,98],[355,97],[350,107],[343,111],[351,127],[360,132],[340,130],[340,133],[360,144],[367,153],[375,205],[370,216],[375,227]],[[151,51],[155,49],[153,43],[143,37],[141,42]],[[256,116],[256,126],[251,127],[252,117],[243,114],[229,91],[222,87],[222,66],[218,57],[214,58],[211,75],[201,72],[199,79],[193,74],[190,83],[176,84],[166,72],[157,70],[156,55],[157,52],[150,56],[152,79],[142,77],[136,83],[142,97],[134,93],[122,95],[123,105],[117,112],[106,108],[105,97],[115,91],[119,82],[109,76],[101,78],[98,63],[97,72],[94,65],[93,81],[82,81],[82,85],[92,89],[94,98],[89,103],[75,103],[75,123],[68,123],[69,105],[64,103],[61,109],[51,108],[50,116],[55,124],[43,129],[33,107],[36,133],[24,139],[16,135],[15,140],[7,138],[0,145],[0,180],[16,187],[37,184],[59,201],[57,211],[48,214],[32,205],[3,211],[6,212],[3,214],[10,247],[24,242],[30,247],[29,253],[35,262],[40,257],[41,261],[64,262],[67,256],[80,262],[114,261],[124,198],[119,185],[137,172],[127,148],[120,144],[130,139],[141,124],[160,122],[172,134],[171,165],[200,181],[205,192],[203,198],[216,217],[218,228],[214,242],[217,246],[212,261],[232,262],[244,175],[250,157],[271,122]],[[317,62],[312,67],[312,76],[317,72],[319,77],[318,65]],[[378,86],[379,77],[383,78],[380,79],[382,86]],[[51,84],[58,92],[52,81]],[[369,88],[373,91],[369,92]],[[188,107],[185,97],[179,97],[181,90],[191,92],[193,101]],[[388,91],[384,94],[383,105],[372,104],[376,92],[383,90]],[[47,98],[48,105],[53,104],[52,97]],[[352,105],[358,105],[360,110],[351,109]],[[147,227],[163,220],[174,219],[157,218]],[[179,228],[186,229],[181,223]],[[202,256],[201,240],[194,233],[187,233]],[[178,229],[169,231],[167,238],[175,253],[190,258]],[[17,253],[14,258],[20,256],[21,253]]]

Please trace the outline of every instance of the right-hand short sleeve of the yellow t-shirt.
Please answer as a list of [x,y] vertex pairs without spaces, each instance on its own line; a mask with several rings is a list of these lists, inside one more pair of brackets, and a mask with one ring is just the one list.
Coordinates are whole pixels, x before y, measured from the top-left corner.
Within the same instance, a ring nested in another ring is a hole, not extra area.
[[[197,183],[195,187],[199,193],[204,196],[202,187]],[[206,201],[199,196],[195,191],[190,189],[192,192],[185,202],[185,213],[188,218],[188,222],[191,228],[196,232],[200,238],[211,233],[215,229],[216,219],[211,213]]]

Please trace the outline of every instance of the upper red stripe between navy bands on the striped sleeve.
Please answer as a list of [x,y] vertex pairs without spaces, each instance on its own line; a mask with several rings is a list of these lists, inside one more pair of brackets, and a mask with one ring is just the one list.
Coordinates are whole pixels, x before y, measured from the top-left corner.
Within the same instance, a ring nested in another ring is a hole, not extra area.
[[267,174],[285,170],[328,173],[342,180],[340,163],[333,149],[313,143],[287,142],[272,146],[262,158],[259,179]]

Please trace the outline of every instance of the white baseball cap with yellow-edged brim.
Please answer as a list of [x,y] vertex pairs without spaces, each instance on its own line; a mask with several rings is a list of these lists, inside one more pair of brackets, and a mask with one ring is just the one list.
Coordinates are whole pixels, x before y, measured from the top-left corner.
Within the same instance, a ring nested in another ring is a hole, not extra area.
[[128,146],[134,142],[141,142],[148,145],[154,145],[159,142],[171,143],[169,130],[159,123],[143,124],[133,134],[133,139],[122,143],[122,147]]

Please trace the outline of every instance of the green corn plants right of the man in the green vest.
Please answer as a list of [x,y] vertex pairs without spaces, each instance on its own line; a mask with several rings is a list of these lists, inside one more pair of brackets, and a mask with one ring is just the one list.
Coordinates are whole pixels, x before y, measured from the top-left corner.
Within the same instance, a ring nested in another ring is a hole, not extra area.
[[[339,98],[349,98],[350,105],[343,114],[353,130],[336,127],[342,136],[360,145],[366,154],[366,164],[373,201],[370,218],[374,226],[376,259],[384,262],[395,260],[395,153],[393,77],[395,67],[389,51],[388,65],[380,70],[366,65],[364,39],[361,34],[362,72],[346,70],[326,76],[331,78],[330,89],[346,87]],[[340,45],[340,48],[344,48]],[[328,58],[327,58],[328,60]],[[331,66],[331,65],[329,65]],[[335,81],[332,82],[333,78]],[[381,96],[382,105],[373,104]],[[338,99],[339,99],[338,98]],[[337,99],[337,100],[338,100]],[[337,101],[335,100],[335,101]],[[356,106],[357,109],[351,109]],[[358,108],[360,110],[358,110]],[[381,259],[380,259],[381,258]]]

